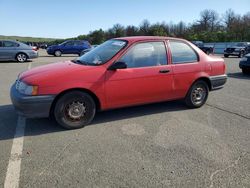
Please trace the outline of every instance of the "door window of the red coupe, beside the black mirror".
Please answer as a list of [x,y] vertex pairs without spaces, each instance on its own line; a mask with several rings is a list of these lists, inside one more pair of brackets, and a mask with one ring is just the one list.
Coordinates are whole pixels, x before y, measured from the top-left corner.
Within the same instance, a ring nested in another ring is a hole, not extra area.
[[163,42],[145,42],[133,46],[119,61],[128,68],[160,66],[167,64],[166,55]]

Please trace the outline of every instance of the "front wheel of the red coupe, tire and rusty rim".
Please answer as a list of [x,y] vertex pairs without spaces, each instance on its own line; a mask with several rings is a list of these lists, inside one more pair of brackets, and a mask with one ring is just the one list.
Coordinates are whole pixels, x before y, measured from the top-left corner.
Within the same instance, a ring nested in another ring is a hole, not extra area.
[[96,104],[89,94],[72,91],[58,99],[54,108],[54,117],[64,128],[78,129],[91,123],[95,112]]

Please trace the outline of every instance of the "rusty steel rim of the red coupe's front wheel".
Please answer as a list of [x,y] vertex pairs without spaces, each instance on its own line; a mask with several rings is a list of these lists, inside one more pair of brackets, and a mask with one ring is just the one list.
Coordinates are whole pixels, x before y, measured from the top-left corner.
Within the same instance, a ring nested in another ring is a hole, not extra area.
[[74,101],[66,105],[65,115],[72,121],[81,120],[86,113],[86,106],[83,102]]

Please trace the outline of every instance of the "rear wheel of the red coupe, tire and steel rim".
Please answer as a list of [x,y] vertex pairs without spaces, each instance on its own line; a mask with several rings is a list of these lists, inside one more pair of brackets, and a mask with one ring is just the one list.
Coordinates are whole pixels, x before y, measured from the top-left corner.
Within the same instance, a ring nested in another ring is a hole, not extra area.
[[209,88],[205,81],[196,81],[189,89],[185,103],[189,108],[200,108],[208,98]]

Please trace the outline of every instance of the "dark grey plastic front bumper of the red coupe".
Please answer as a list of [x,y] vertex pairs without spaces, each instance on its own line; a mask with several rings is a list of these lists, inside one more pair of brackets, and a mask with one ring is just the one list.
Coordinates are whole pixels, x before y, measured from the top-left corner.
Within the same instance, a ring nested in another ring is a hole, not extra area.
[[16,90],[15,84],[11,87],[10,97],[18,114],[27,118],[49,117],[55,99],[55,95],[23,95]]

